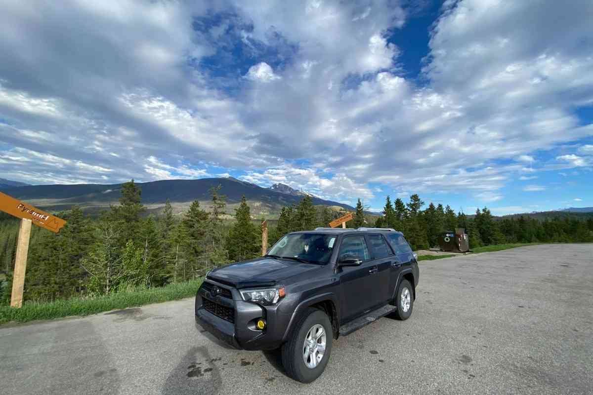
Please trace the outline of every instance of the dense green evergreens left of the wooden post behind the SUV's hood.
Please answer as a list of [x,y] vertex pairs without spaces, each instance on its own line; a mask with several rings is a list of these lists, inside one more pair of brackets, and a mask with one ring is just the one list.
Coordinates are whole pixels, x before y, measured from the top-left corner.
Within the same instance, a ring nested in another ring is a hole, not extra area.
[[[146,216],[142,191],[132,181],[122,185],[119,204],[97,219],[81,208],[58,214],[66,220],[59,233],[35,230],[25,277],[25,300],[95,296],[130,287],[160,287],[192,280],[214,266],[258,256],[261,233],[251,220],[246,199],[231,225],[221,187],[211,189],[209,209],[195,200],[174,216],[170,201],[161,216]],[[1,300],[8,303],[14,268],[18,221],[0,225],[0,263],[7,276]]]

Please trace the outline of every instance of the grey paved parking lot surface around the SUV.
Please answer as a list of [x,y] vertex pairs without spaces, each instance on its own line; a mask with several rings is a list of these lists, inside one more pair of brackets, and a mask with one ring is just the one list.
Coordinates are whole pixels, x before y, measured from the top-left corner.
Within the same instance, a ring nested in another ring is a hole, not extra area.
[[6,394],[591,394],[593,245],[420,262],[412,317],[334,342],[300,384],[196,329],[193,300],[0,329]]

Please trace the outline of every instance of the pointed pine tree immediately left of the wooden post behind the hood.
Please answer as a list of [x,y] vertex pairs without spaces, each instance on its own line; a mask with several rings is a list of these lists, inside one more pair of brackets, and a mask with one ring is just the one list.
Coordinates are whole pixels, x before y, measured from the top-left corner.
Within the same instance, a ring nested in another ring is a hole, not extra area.
[[227,250],[231,261],[244,261],[259,255],[261,235],[257,226],[251,221],[251,213],[245,196],[241,204],[235,208],[235,223],[227,236]]

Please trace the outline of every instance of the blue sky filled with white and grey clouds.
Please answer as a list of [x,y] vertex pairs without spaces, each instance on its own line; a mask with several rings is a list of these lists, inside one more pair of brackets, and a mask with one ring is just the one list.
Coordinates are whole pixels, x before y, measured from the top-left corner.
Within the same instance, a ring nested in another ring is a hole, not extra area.
[[1,2],[1,178],[593,206],[593,2]]

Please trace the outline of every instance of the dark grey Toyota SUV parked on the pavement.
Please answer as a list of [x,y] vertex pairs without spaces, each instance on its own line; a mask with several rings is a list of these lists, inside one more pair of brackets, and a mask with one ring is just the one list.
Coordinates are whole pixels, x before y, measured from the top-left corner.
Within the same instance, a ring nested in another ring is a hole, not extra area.
[[196,322],[238,349],[282,349],[286,373],[310,383],[331,342],[391,314],[412,314],[417,256],[393,229],[285,235],[261,258],[213,269],[196,295]]

